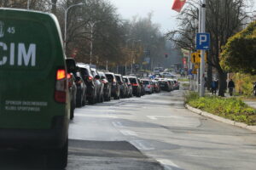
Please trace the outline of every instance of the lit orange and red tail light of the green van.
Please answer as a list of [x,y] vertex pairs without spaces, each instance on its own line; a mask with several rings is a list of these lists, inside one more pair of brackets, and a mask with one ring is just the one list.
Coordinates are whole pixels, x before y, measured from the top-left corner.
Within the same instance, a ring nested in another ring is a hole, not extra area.
[[67,73],[65,69],[58,69],[56,72],[55,101],[60,103],[67,101]]

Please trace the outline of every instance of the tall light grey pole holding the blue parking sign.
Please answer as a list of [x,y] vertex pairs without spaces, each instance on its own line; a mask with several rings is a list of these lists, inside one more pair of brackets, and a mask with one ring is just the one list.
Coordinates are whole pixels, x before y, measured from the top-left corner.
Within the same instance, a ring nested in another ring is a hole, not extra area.
[[[206,0],[201,3],[201,33],[206,32]],[[205,95],[205,53],[206,50],[201,50],[201,74],[200,74],[200,97]]]

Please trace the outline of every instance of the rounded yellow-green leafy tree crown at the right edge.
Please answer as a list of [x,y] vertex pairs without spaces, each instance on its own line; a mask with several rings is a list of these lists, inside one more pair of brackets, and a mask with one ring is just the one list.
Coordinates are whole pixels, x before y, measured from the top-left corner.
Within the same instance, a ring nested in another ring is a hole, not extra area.
[[256,21],[230,37],[224,45],[220,64],[225,71],[256,75]]

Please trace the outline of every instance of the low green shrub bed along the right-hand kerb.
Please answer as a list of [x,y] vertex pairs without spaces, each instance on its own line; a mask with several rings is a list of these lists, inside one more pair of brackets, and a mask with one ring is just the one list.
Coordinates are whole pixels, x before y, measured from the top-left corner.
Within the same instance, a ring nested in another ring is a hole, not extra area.
[[256,110],[246,105],[239,98],[223,98],[218,96],[200,98],[197,93],[191,92],[185,96],[185,103],[202,111],[223,116],[236,122],[256,125]]

